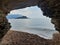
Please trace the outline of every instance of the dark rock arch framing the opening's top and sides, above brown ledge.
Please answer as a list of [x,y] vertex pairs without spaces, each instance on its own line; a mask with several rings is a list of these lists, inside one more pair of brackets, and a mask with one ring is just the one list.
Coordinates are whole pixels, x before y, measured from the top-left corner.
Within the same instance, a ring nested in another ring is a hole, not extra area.
[[60,0],[0,0],[0,20],[4,20],[0,21],[0,32],[4,30],[5,34],[6,30],[10,29],[10,24],[6,19],[8,12],[36,5],[41,8],[45,16],[52,18],[52,23],[60,32]]

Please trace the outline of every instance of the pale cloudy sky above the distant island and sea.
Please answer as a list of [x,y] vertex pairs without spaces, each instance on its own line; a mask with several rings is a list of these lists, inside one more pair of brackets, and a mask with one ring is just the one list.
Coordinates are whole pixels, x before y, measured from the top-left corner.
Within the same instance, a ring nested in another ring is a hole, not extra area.
[[12,10],[10,14],[21,14],[29,18],[45,18],[45,16],[43,16],[42,14],[41,9],[38,8],[37,6],[27,7],[27,8],[18,9],[18,10]]

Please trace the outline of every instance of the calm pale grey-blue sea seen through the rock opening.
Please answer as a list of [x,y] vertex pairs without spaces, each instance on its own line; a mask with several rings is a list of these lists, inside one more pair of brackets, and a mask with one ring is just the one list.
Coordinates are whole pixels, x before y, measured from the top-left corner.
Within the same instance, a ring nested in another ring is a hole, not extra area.
[[51,39],[52,34],[56,32],[50,19],[9,19],[12,25],[11,30],[37,34],[43,38]]

